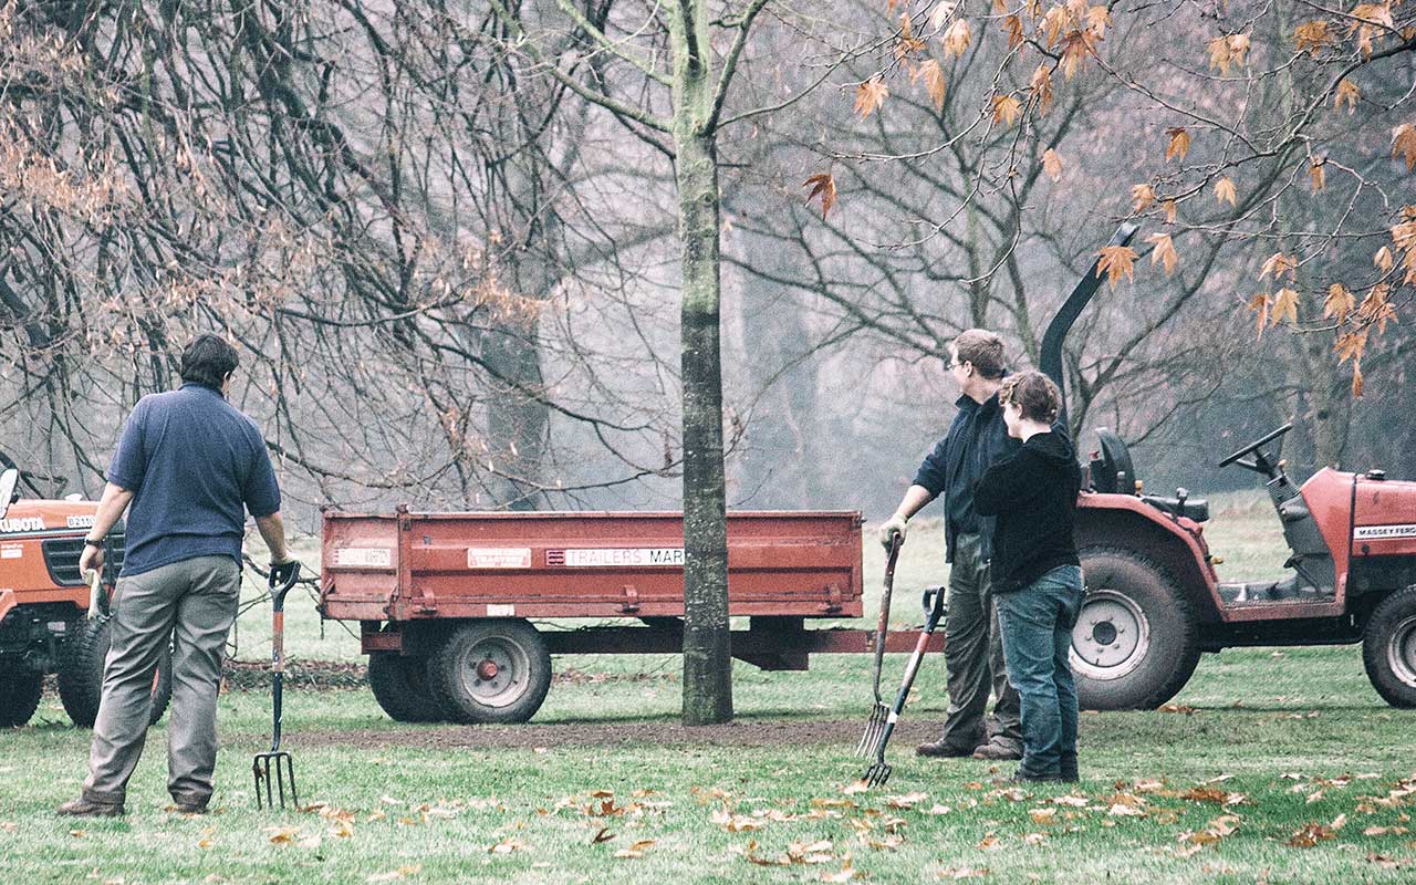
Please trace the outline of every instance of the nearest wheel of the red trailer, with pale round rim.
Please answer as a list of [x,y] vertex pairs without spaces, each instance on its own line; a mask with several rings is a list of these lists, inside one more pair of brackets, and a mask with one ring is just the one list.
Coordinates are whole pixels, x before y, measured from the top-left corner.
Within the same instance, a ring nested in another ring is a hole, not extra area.
[[428,657],[428,683],[453,722],[525,722],[551,688],[551,653],[524,620],[470,622]]

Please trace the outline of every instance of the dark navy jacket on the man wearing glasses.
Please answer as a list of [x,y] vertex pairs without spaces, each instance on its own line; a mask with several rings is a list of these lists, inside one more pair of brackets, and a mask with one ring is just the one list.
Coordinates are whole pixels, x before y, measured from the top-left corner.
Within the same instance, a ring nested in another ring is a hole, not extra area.
[[954,561],[954,539],[961,534],[980,535],[987,559],[993,555],[994,517],[974,510],[973,489],[990,466],[1017,452],[1021,443],[1008,436],[997,394],[981,404],[960,396],[954,405],[959,412],[949,433],[925,456],[915,484],[935,497],[944,496],[944,561]]

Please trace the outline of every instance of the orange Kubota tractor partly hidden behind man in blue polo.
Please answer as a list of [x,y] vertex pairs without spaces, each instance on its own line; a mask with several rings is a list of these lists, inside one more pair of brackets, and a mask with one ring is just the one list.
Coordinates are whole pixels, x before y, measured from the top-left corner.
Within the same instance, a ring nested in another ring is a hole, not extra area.
[[[120,530],[109,535],[105,573],[98,586],[89,586],[79,573],[79,554],[98,504],[78,496],[21,498],[21,481],[37,496],[38,487],[4,455],[0,470],[0,726],[30,721],[51,673],[74,724],[92,726],[109,646],[108,599],[123,561],[123,537]],[[154,722],[170,697],[169,653],[153,674]]]

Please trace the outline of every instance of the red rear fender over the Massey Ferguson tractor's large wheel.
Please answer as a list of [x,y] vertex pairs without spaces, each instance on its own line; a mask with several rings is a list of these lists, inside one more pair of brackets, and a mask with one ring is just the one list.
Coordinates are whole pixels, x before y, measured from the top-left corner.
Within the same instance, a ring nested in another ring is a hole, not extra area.
[[1218,579],[1197,523],[1171,517],[1130,494],[1082,493],[1076,545],[1134,551],[1175,581],[1199,623],[1222,620]]

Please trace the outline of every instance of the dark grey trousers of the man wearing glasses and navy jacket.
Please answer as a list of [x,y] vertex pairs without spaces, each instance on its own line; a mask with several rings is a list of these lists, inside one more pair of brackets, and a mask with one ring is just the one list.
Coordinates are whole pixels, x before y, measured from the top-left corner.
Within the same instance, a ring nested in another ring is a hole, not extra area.
[[[971,750],[988,742],[1022,752],[1021,702],[1017,690],[1008,684],[1003,633],[978,535],[954,538],[947,599],[944,668],[949,674],[949,712],[940,739],[959,750]],[[990,688],[997,702],[986,722]]]

